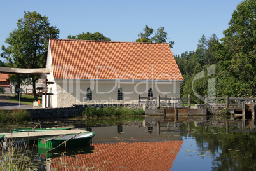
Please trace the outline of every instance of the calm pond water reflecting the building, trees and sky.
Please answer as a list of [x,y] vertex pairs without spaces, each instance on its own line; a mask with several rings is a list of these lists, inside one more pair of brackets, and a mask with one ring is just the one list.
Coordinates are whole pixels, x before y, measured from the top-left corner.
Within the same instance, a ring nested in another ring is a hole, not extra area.
[[[83,161],[83,166],[79,162],[76,162],[76,167],[74,167],[74,163],[70,164],[76,170],[79,168],[82,170],[82,167],[95,170],[134,170],[136,167],[138,170],[163,170],[163,168],[164,170],[256,169],[256,131],[253,120],[243,121],[231,118],[231,120],[222,121],[206,117],[118,117],[97,118],[96,120],[77,118],[41,120],[40,122],[44,128],[72,126],[95,132],[92,146],[65,150],[66,156],[72,156],[76,161]],[[10,132],[13,128],[32,128],[34,125],[36,122],[22,123],[22,125],[1,124],[0,132]],[[161,142],[168,143],[168,146],[165,146],[166,149],[159,148],[162,146]],[[106,145],[106,143],[108,144]],[[177,143],[180,145],[177,146]],[[127,146],[135,148],[138,144],[141,149],[137,153],[129,151],[127,148]],[[146,145],[151,148],[147,149]],[[106,152],[106,146],[113,150]],[[143,151],[143,147],[149,153]],[[58,167],[52,163],[49,167],[49,164],[47,165],[45,162],[46,160],[60,162],[61,154],[63,157],[62,152],[55,151],[46,156],[47,159],[37,158],[35,163],[38,164],[34,167],[37,170],[45,168],[63,170],[60,165]],[[34,150],[34,153],[37,154],[38,151]],[[115,158],[117,155],[120,156]],[[137,158],[143,158],[141,160],[143,162],[128,162]],[[146,158],[150,158],[149,163]],[[155,167],[154,163],[159,160],[166,162],[164,163],[165,167]],[[67,162],[68,160],[62,165],[68,166]]]

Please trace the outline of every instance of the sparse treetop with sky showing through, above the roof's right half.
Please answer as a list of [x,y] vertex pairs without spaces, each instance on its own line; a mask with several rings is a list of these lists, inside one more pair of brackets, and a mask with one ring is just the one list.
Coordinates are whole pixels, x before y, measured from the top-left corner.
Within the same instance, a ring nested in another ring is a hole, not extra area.
[[[145,26],[143,29],[144,32],[140,32],[138,34],[139,38],[136,39],[136,42],[153,42],[153,43],[166,43],[169,38],[167,38],[167,32],[164,31],[164,27],[159,27],[157,31],[155,31],[152,27]],[[155,36],[152,36],[153,32],[155,32]],[[169,41],[170,48],[173,47],[174,41]]]

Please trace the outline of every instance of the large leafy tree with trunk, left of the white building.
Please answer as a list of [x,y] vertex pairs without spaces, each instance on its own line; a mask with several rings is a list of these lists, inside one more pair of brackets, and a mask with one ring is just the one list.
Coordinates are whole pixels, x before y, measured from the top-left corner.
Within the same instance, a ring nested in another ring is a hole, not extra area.
[[[24,18],[17,22],[18,29],[10,32],[6,38],[9,46],[2,46],[1,57],[8,62],[9,67],[41,68],[46,67],[48,41],[50,38],[59,38],[59,29],[50,25],[48,17],[36,11],[24,12]],[[33,85],[36,97],[36,81],[39,76],[27,76]],[[19,82],[19,81],[18,81]]]

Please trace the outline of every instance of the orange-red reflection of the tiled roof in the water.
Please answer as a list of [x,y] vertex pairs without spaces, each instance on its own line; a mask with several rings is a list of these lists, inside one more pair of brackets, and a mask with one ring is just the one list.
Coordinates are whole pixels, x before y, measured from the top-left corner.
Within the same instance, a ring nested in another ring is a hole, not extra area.
[[[53,158],[51,170],[169,170],[183,141],[92,144],[94,153]],[[68,169],[65,169],[65,165]]]

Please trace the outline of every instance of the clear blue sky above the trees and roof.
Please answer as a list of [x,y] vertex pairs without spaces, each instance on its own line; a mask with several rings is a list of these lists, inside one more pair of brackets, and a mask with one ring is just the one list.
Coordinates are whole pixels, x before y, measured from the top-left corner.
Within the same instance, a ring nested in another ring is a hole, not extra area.
[[[50,24],[60,29],[60,39],[69,34],[101,32],[112,41],[135,41],[145,25],[164,27],[168,38],[175,41],[174,55],[197,48],[203,34],[210,37],[229,27],[232,12],[242,0],[15,0],[0,3],[0,46],[8,34],[17,29],[24,11],[37,11],[49,17]],[[0,50],[0,53],[2,51]]]

